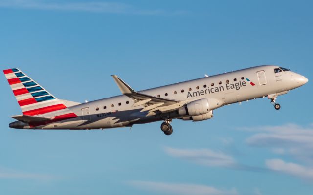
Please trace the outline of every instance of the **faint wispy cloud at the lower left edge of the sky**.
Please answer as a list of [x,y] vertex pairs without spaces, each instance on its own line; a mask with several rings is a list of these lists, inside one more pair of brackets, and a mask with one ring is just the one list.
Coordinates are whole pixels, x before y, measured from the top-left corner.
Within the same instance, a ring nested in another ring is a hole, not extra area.
[[52,176],[25,173],[17,170],[12,170],[4,167],[0,167],[0,179],[35,179],[35,180],[48,180],[52,179]]

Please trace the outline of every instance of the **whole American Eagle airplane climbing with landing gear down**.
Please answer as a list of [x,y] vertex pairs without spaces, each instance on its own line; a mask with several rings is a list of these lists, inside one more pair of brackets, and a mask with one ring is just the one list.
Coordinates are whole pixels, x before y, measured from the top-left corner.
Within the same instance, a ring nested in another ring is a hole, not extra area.
[[197,78],[152,89],[135,91],[112,75],[122,95],[78,103],[54,97],[17,68],[3,70],[22,115],[9,124],[16,129],[91,130],[132,127],[163,121],[161,130],[171,135],[173,119],[202,121],[224,105],[268,97],[276,110],[276,98],[308,82],[287,68],[263,65]]

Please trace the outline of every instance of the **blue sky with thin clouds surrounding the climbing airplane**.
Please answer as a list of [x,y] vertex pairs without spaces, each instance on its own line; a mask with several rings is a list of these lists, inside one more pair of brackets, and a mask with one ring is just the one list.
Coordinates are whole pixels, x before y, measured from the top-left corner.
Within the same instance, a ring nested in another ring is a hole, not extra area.
[[0,193],[311,195],[313,3],[298,0],[0,0],[0,64],[58,98],[119,95],[262,64],[309,82],[225,106],[202,122],[105,131],[9,129],[21,113],[2,77]]

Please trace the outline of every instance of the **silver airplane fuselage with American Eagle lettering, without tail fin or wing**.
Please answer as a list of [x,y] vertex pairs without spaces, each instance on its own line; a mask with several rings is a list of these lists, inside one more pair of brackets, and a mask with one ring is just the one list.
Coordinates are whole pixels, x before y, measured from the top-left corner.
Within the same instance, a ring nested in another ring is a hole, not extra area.
[[[181,102],[180,107],[194,100],[206,99],[210,106],[209,114],[212,115],[214,109],[250,99],[268,97],[275,102],[277,96],[286,94],[288,91],[308,82],[307,78],[295,72],[285,69],[275,71],[278,68],[279,66],[272,65],[257,66],[142,90],[138,91],[138,93],[156,98],[178,100]],[[149,115],[148,113],[151,109],[142,112],[142,109],[149,106],[149,104],[134,106],[136,102],[138,102],[137,99],[126,95],[104,98],[67,106],[77,117],[65,117],[64,120],[61,118],[59,120],[51,119],[50,121],[29,123],[16,121],[11,123],[10,127],[21,129],[80,130],[125,127],[154,121],[171,121],[178,118],[193,120],[193,116],[181,112],[177,108],[171,111],[167,110],[166,112],[157,110],[154,115]],[[55,116],[60,116],[64,113],[64,110],[57,110],[36,115],[36,117],[56,118]],[[201,120],[201,118],[203,120],[208,119],[207,117],[199,116],[196,121]]]

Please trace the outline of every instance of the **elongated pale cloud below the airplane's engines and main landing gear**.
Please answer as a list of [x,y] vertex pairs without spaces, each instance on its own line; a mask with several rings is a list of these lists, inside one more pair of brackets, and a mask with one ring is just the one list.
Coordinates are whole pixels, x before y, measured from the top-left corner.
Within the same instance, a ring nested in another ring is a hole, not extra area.
[[175,149],[166,147],[165,152],[170,156],[205,166],[231,167],[237,164],[233,157],[221,151],[213,151],[210,149]]

